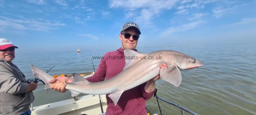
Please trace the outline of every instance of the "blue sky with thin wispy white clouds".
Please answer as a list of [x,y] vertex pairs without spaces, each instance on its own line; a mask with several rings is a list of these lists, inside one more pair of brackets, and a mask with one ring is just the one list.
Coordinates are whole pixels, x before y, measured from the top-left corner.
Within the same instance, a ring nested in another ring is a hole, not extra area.
[[137,47],[256,43],[256,0],[0,0],[0,38],[18,52],[116,50],[124,23]]

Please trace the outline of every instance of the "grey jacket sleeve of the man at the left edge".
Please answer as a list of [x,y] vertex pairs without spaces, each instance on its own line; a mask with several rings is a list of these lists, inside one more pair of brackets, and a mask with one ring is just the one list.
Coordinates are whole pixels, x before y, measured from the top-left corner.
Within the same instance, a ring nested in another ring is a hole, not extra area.
[[0,64],[0,75],[0,92],[9,94],[21,94],[26,92],[28,84],[17,79],[14,73],[12,73],[11,68]]

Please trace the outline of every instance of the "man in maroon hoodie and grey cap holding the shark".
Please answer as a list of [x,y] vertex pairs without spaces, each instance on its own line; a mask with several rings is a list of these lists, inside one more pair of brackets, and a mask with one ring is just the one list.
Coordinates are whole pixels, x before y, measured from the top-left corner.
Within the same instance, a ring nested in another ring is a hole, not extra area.
[[[119,34],[119,39],[122,42],[121,48],[116,51],[110,51],[104,55],[108,56],[124,56],[124,49],[136,50],[139,35],[141,34],[139,26],[136,23],[128,22],[122,27]],[[101,82],[111,79],[125,67],[125,58],[121,59],[106,59],[102,58],[96,73],[93,76],[86,78],[89,82]],[[162,67],[167,67],[166,64],[162,64],[159,67],[159,71]],[[126,67],[125,67],[126,68]],[[143,83],[135,88],[122,92],[118,103],[114,103],[111,98],[106,95],[107,98],[107,112],[106,115],[133,115],[140,114],[146,115],[145,109],[146,100],[149,100],[155,92],[155,81],[160,79],[160,76],[156,76],[146,83]],[[65,92],[66,83],[72,83],[74,80],[68,77],[57,77],[49,83],[53,83],[50,88],[55,89],[58,92]]]

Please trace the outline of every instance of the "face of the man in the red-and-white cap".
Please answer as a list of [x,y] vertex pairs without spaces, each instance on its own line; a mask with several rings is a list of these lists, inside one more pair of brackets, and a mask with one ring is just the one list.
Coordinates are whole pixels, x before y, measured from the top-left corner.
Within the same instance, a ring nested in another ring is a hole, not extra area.
[[8,63],[12,62],[15,58],[15,51],[0,51],[0,60],[6,61]]

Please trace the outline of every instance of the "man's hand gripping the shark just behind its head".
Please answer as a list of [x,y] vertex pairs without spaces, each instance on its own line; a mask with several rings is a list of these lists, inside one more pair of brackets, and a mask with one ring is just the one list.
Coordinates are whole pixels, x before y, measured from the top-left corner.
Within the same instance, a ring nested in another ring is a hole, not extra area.
[[[162,69],[162,67],[166,67],[167,68],[167,65],[166,64],[162,64],[160,65],[160,69],[159,69],[159,72],[160,70]],[[155,90],[155,81],[160,79],[160,75],[157,75],[155,76],[154,78],[152,78],[151,80],[149,80],[147,83],[146,83],[146,86],[145,86],[145,91],[150,93],[152,91]]]

